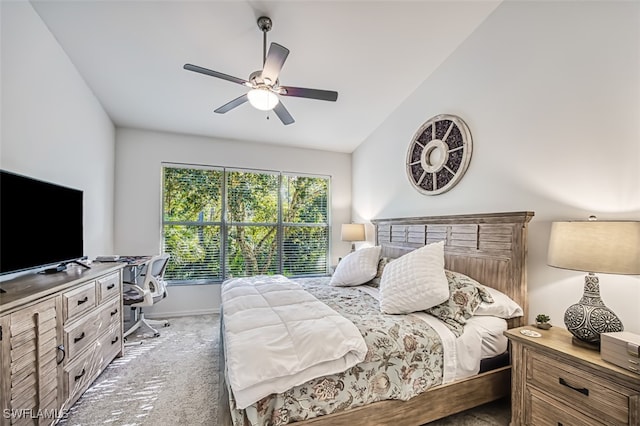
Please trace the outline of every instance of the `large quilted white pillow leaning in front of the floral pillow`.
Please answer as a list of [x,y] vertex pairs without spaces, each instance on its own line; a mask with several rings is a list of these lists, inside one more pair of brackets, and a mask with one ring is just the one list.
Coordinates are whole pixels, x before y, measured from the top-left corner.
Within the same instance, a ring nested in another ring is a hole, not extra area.
[[424,311],[448,299],[444,241],[409,252],[382,272],[380,310],[385,314]]

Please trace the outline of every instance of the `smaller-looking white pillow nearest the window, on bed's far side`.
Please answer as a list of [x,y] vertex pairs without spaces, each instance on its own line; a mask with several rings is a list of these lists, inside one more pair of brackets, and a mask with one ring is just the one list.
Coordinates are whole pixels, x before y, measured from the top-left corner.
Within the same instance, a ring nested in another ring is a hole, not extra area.
[[347,287],[364,284],[376,276],[382,247],[366,247],[349,253],[342,258],[331,276],[329,284]]

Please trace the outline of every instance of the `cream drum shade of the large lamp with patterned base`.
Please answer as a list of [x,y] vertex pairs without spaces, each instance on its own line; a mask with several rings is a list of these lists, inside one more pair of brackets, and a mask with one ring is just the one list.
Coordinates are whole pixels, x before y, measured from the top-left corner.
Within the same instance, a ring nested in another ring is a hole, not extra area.
[[553,222],[547,263],[584,272],[640,274],[640,221]]

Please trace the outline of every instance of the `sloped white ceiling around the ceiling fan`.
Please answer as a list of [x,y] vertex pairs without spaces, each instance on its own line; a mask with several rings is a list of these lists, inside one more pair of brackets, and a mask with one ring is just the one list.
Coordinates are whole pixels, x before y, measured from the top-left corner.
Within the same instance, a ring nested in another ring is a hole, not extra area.
[[[31,3],[116,126],[352,152],[500,0]],[[263,15],[268,43],[291,51],[280,83],[337,102],[283,98],[289,126],[248,103],[213,112],[247,89],[183,65],[248,79],[262,68]]]

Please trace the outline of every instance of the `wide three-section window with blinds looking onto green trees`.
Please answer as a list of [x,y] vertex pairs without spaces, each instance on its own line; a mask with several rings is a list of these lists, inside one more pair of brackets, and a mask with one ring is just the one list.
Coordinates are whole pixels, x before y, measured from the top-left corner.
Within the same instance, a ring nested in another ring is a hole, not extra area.
[[163,166],[163,247],[171,283],[327,272],[329,178]]

